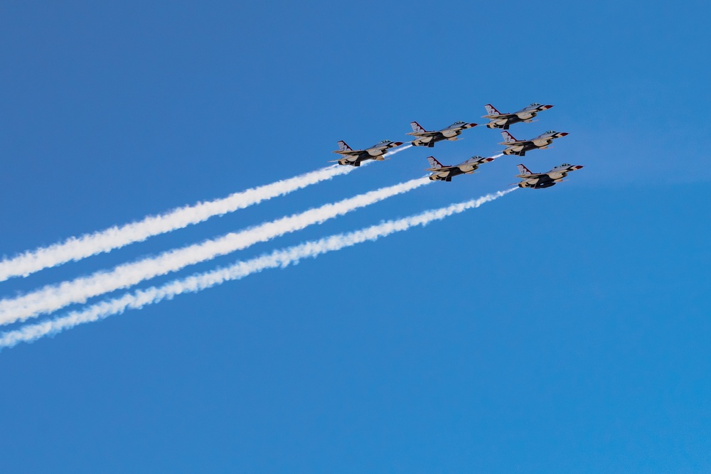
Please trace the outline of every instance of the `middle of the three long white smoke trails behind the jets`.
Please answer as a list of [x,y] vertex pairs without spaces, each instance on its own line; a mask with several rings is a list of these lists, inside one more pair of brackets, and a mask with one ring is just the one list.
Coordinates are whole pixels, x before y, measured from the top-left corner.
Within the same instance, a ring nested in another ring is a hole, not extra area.
[[51,313],[72,303],[85,303],[87,298],[109,291],[127,288],[146,279],[177,271],[185,266],[205,262],[220,255],[245,249],[257,242],[296,232],[312,224],[321,224],[328,219],[346,214],[352,210],[391,196],[407,193],[431,183],[429,178],[416,178],[387,188],[370,191],[339,201],[322,205],[299,214],[282,217],[272,222],[251,227],[241,232],[230,232],[217,239],[205,240],[199,244],[169,250],[156,257],[116,266],[111,271],[97,271],[90,276],[48,285],[37,291],[0,300],[0,324],[24,321],[42,313]]

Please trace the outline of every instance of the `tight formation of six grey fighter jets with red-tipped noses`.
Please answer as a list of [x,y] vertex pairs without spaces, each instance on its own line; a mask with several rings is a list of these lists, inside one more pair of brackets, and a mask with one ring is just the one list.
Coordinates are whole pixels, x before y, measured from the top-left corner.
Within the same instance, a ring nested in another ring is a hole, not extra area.
[[[484,109],[486,109],[486,115],[482,117],[489,119],[488,124],[486,124],[489,129],[502,129],[501,136],[503,136],[503,141],[499,143],[505,146],[501,151],[503,155],[514,155],[514,156],[525,156],[527,151],[533,150],[545,150],[550,148],[552,141],[555,139],[560,139],[567,135],[565,131],[554,131],[549,130],[544,133],[535,136],[528,140],[518,140],[515,139],[512,134],[508,132],[508,129],[513,124],[518,123],[531,123],[535,122],[533,117],[536,117],[538,113],[543,112],[547,109],[552,108],[549,104],[538,104],[533,103],[523,109],[510,114],[502,114],[498,112],[496,108],[491,104],[486,104]],[[410,122],[412,126],[412,131],[407,133],[407,135],[414,136],[415,138],[410,141],[408,146],[427,146],[428,148],[434,148],[434,144],[439,141],[456,141],[459,139],[461,133],[467,129],[472,129],[477,124],[474,122],[454,122],[453,124],[444,127],[444,129],[439,129],[436,131],[427,131],[417,122]],[[353,150],[351,149],[345,141],[338,141],[338,150],[333,151],[333,153],[338,153],[342,158],[338,160],[333,160],[339,165],[348,166],[360,166],[363,161],[374,160],[383,161],[387,159],[387,154],[390,149],[397,146],[405,144],[403,141],[390,141],[383,140],[377,144],[371,146],[367,149]],[[472,174],[479,166],[484,163],[491,163],[498,156],[484,157],[484,156],[472,156],[471,158],[462,161],[456,165],[443,165],[434,156],[428,156],[427,161],[429,162],[429,168],[425,171],[429,171],[432,174],[429,175],[429,179],[432,181],[451,181],[454,176]],[[523,163],[518,166],[518,175],[516,178],[520,178],[519,183],[513,183],[518,185],[519,188],[530,188],[530,189],[545,189],[550,188],[552,185],[557,183],[562,183],[563,178],[567,176],[571,171],[577,171],[583,168],[581,165],[570,165],[568,163],[563,163],[560,166],[552,168],[546,173],[531,173],[528,168],[526,168]]]

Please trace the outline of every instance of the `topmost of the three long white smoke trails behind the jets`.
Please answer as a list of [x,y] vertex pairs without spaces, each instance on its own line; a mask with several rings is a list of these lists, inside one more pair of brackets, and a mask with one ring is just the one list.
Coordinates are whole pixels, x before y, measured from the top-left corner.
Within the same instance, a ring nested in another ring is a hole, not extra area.
[[352,166],[327,166],[310,173],[294,176],[294,178],[233,193],[226,198],[176,208],[159,215],[149,215],[138,222],[109,227],[92,234],[70,237],[64,242],[48,247],[28,250],[0,262],[0,281],[5,281],[13,276],[28,276],[52,266],[85,259],[95,254],[111,252],[113,249],[141,242],[154,235],[203,222],[215,215],[223,215],[247,208],[247,206],[260,203],[263,200],[292,193],[292,191],[306,188],[306,186],[319,183],[319,181],[350,173],[354,169]]

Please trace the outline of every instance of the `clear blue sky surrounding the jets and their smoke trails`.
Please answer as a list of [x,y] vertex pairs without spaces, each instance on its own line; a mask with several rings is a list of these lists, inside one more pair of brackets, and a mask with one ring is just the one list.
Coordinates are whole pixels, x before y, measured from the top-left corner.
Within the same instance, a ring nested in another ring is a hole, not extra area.
[[[240,254],[548,190],[0,352],[2,473],[711,470],[706,2],[6,2],[0,254],[555,104],[523,160]],[[443,163],[501,149],[477,127]],[[1,284],[70,279],[420,176],[427,149]],[[160,283],[174,278],[149,281]],[[98,300],[97,300],[98,301]]]

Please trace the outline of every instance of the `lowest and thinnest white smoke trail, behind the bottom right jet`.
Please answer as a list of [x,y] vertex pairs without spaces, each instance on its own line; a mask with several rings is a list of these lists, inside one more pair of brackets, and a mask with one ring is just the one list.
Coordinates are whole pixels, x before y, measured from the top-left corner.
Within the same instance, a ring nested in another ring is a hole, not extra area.
[[245,276],[272,268],[284,268],[290,264],[299,262],[300,259],[315,258],[327,252],[333,252],[344,247],[351,247],[361,242],[377,240],[395,232],[402,232],[416,225],[427,225],[434,220],[442,220],[450,215],[459,214],[468,209],[479,208],[484,203],[493,201],[503,195],[517,190],[510,188],[498,193],[487,194],[478,199],[472,199],[464,203],[452,204],[446,208],[428,210],[417,215],[405,217],[397,220],[389,220],[378,225],[366,227],[347,234],[331,235],[323,239],[304,242],[303,244],[287,249],[277,250],[271,254],[262,255],[245,262],[237,262],[224,269],[216,269],[203,274],[188,276],[184,279],[171,281],[163,286],[153,286],[149,289],[127,293],[120,298],[114,298],[101,303],[96,303],[81,311],[73,311],[67,316],[55,318],[42,323],[25,325],[17,330],[12,330],[0,335],[0,348],[11,348],[12,346],[42,338],[45,335],[53,335],[63,330],[73,328],[76,325],[100,321],[108,316],[123,313],[127,309],[139,309],[146,305],[159,303],[164,299],[171,299],[182,293],[195,293],[212,286],[223,284],[225,281],[239,280]]

